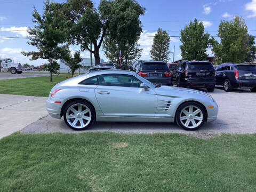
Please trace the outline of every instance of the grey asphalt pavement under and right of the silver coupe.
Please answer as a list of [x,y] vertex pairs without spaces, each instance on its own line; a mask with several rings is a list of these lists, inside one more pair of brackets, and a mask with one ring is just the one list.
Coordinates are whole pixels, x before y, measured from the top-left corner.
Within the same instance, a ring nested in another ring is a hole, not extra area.
[[[201,90],[205,91],[205,90]],[[85,131],[71,130],[63,119],[50,116],[42,118],[26,126],[23,133],[81,133],[112,131],[116,133],[185,133],[200,138],[210,138],[221,133],[256,133],[255,108],[256,93],[249,89],[238,89],[225,92],[222,88],[210,92],[219,105],[218,119],[212,123],[205,123],[197,131],[185,131],[174,123],[117,123],[97,122]]]

